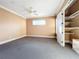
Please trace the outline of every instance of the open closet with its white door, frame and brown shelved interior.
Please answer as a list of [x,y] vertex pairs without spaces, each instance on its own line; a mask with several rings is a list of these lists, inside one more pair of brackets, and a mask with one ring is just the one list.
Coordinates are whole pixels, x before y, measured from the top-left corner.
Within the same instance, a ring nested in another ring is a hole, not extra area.
[[[57,41],[61,46],[79,40],[79,1],[68,0],[56,17]],[[76,8],[75,8],[76,7]]]

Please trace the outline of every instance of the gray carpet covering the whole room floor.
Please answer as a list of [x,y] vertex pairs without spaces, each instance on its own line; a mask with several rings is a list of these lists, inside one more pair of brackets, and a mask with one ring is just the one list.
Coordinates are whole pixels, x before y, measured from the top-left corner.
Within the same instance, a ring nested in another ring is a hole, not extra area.
[[21,38],[0,46],[0,59],[79,59],[79,55],[54,39]]

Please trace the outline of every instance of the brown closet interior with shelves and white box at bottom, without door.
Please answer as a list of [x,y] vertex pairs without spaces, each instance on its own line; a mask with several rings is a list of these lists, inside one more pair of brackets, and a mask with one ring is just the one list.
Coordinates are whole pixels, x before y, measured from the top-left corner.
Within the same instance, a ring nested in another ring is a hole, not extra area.
[[79,0],[76,0],[65,11],[65,33],[68,43],[79,54]]

